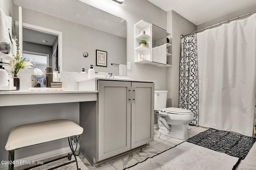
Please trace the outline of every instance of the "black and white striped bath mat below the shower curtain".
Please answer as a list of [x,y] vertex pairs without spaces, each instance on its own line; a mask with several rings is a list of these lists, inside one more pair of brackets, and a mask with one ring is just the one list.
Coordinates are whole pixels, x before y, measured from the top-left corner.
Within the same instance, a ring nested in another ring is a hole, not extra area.
[[209,128],[186,141],[244,159],[256,138]]

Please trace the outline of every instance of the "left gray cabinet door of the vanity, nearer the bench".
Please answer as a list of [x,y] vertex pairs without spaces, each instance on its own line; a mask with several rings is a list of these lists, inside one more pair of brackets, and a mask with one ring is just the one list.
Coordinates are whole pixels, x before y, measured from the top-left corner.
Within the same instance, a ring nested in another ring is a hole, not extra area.
[[98,160],[130,150],[131,82],[98,81]]

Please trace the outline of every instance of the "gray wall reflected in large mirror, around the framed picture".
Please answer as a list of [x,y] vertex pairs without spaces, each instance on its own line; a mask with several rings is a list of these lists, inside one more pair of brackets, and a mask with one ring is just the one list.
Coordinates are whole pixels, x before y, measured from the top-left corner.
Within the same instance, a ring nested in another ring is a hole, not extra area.
[[[62,32],[63,71],[81,72],[96,65],[96,49],[107,51],[107,67],[94,67],[119,75],[111,63],[126,64],[126,39],[87,26],[69,22],[34,10],[22,8],[22,22]],[[88,52],[88,57],[83,53]],[[86,71],[87,72],[87,71]]]

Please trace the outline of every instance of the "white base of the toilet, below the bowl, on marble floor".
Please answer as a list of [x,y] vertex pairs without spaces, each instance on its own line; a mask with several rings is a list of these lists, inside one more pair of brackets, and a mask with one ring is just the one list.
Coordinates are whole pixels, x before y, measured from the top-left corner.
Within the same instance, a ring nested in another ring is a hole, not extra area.
[[164,130],[158,129],[158,132],[160,132],[166,136],[170,136],[172,138],[177,138],[177,139],[182,139],[182,140],[189,138],[188,124],[179,125],[179,126],[171,125],[170,131],[164,131]]

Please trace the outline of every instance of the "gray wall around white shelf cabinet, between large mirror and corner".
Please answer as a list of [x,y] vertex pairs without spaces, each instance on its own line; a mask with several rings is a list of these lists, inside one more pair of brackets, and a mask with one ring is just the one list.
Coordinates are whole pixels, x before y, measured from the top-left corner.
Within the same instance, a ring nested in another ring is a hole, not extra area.
[[126,0],[121,5],[111,0],[101,0],[100,3],[95,0],[80,1],[127,20],[126,54],[127,61],[131,62],[131,70],[127,70],[127,76],[133,79],[155,80],[155,90],[166,90],[166,68],[134,63],[134,25],[140,20],[145,20],[166,30],[166,12],[148,0]]

